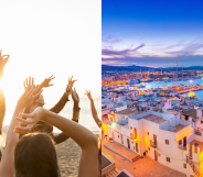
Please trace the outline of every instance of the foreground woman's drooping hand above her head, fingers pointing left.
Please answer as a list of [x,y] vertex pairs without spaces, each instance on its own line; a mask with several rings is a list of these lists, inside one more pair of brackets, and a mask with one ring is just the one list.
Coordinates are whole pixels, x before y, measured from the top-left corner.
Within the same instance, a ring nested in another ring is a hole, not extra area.
[[[44,117],[45,110],[41,107],[36,108],[32,113],[20,113],[20,117],[17,117],[15,120],[20,121],[21,126],[15,126],[14,132],[26,134],[35,126],[35,124]],[[23,118],[28,118],[22,119]]]

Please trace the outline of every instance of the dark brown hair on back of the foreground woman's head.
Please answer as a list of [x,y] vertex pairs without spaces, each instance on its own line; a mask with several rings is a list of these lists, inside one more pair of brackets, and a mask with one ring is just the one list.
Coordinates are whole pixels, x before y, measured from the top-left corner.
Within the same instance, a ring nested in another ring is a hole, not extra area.
[[56,151],[45,133],[20,139],[14,151],[15,177],[58,177]]

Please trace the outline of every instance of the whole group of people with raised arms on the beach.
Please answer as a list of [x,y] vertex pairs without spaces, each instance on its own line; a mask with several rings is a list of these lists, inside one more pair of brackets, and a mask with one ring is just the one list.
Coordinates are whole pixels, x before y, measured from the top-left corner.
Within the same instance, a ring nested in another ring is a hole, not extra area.
[[[0,79],[10,55],[1,55],[0,51]],[[24,92],[19,98],[13,117],[7,133],[6,147],[0,162],[0,176],[2,177],[60,177],[55,144],[73,139],[82,148],[78,165],[79,177],[100,176],[100,144],[93,132],[78,124],[79,97],[73,85],[73,76],[68,79],[66,90],[60,101],[50,110],[42,95],[43,88],[52,86],[53,76],[45,78],[42,84],[34,85],[34,78],[24,81]],[[85,91],[90,100],[92,115],[100,128],[101,122],[97,115],[90,91]],[[57,114],[73,99],[73,117],[68,120]],[[6,98],[0,88],[0,131],[6,114]],[[62,132],[53,134],[53,126]],[[0,132],[1,133],[1,132]],[[68,147],[67,147],[68,148]],[[68,150],[67,150],[68,151]]]

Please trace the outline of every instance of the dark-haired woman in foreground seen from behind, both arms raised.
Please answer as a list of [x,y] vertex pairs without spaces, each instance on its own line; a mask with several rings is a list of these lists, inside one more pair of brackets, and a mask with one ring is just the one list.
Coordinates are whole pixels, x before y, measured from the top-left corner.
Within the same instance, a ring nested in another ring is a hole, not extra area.
[[[44,133],[29,133],[34,125],[43,121],[56,126],[72,137],[82,148],[78,177],[96,177],[97,173],[97,139],[86,128],[67,120],[43,108],[36,108],[32,113],[21,113],[41,91],[35,88],[20,97],[9,126],[7,143],[0,164],[0,176],[3,177],[60,177],[57,157],[52,139]],[[73,97],[79,99],[76,90]],[[20,115],[20,117],[19,117]],[[23,118],[28,118],[22,119]],[[25,134],[19,141],[19,133]]]

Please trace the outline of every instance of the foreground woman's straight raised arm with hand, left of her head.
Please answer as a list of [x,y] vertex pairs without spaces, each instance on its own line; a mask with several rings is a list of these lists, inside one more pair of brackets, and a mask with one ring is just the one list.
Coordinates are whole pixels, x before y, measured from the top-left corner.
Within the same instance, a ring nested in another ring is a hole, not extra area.
[[14,148],[19,141],[19,134],[14,133],[13,130],[15,126],[20,126],[19,121],[17,121],[14,118],[18,117],[19,113],[22,112],[23,109],[28,107],[42,92],[40,91],[35,95],[34,90],[35,86],[33,86],[30,90],[26,89],[15,106],[15,110],[7,134],[6,148],[1,158],[0,176],[13,177],[14,175]]

